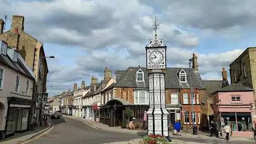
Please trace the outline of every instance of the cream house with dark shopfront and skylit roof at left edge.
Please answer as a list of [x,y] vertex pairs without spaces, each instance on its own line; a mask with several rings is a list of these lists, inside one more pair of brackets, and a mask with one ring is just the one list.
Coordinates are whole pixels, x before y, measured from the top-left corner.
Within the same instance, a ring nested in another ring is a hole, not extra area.
[[0,41],[0,137],[26,131],[32,115],[35,74],[21,55]]

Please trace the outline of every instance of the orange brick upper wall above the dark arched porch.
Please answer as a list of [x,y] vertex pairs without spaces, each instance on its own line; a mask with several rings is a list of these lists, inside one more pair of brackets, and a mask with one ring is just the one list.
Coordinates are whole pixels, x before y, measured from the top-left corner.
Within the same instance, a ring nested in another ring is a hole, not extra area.
[[127,87],[117,87],[116,97],[129,101],[129,103],[134,103],[134,89]]

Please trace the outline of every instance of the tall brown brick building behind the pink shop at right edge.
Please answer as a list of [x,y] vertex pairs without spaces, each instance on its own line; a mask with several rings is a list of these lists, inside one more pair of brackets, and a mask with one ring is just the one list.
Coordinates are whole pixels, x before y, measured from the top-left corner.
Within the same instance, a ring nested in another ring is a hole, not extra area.
[[256,47],[248,47],[230,65],[231,84],[243,83],[254,90],[256,100]]

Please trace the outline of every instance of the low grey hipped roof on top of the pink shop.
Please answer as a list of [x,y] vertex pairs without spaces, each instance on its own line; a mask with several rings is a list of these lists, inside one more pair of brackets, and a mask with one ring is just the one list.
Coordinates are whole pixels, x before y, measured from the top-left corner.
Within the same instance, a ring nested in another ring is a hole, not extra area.
[[220,90],[217,90],[216,92],[246,92],[246,91],[253,91],[252,88],[249,88],[247,86],[244,86],[242,83],[233,83],[230,86],[221,88]]

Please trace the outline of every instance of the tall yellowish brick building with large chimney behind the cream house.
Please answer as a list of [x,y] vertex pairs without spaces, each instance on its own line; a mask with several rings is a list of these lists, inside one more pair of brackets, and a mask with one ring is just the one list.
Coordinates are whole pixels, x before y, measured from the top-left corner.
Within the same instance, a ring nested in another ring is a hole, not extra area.
[[37,93],[33,96],[33,101],[36,101],[38,104],[35,105],[37,121],[41,120],[40,113],[43,106],[40,101],[43,100],[43,95],[46,95],[48,73],[46,58],[43,58],[45,57],[43,43],[24,31],[23,16],[13,16],[11,29],[8,31],[3,32],[3,27],[4,21],[0,19],[0,40],[7,42],[9,47],[16,49],[36,75]]

